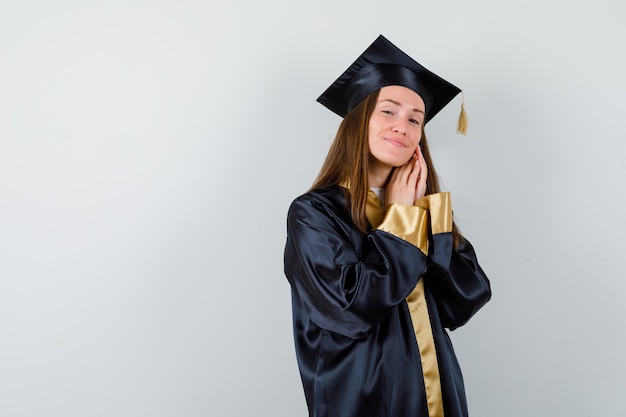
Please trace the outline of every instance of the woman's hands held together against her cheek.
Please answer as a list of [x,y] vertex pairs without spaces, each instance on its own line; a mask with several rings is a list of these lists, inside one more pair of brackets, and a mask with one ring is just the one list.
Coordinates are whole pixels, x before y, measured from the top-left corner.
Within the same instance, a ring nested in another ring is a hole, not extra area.
[[393,170],[385,199],[387,204],[398,203],[412,206],[415,200],[426,194],[426,161],[418,147],[409,161]]

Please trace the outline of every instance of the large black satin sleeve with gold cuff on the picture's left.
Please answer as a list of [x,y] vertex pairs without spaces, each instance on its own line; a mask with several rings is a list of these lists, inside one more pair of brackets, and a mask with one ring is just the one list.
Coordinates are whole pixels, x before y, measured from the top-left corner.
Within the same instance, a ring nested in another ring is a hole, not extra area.
[[427,268],[417,246],[428,240],[423,221],[422,208],[397,206],[363,235],[343,204],[310,194],[296,199],[287,216],[285,275],[311,321],[360,338],[404,302]]

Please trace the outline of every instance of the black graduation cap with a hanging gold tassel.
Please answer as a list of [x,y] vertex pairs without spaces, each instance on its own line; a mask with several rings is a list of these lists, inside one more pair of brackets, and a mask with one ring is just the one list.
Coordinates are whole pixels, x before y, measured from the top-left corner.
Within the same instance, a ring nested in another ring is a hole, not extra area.
[[[345,117],[370,93],[388,85],[400,85],[419,94],[426,105],[424,123],[461,92],[380,35],[317,101]],[[461,104],[457,133],[466,131],[467,117]]]

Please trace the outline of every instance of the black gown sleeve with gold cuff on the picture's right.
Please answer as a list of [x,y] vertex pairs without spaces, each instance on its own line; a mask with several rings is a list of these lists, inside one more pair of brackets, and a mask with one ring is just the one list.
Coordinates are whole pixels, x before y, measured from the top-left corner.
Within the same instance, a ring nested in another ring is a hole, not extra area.
[[467,239],[460,236],[458,248],[453,247],[449,193],[432,194],[416,204],[428,206],[430,214],[432,245],[425,279],[437,298],[442,325],[454,330],[489,301],[489,280]]

